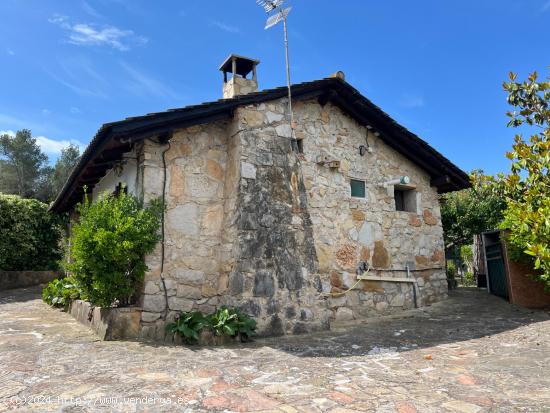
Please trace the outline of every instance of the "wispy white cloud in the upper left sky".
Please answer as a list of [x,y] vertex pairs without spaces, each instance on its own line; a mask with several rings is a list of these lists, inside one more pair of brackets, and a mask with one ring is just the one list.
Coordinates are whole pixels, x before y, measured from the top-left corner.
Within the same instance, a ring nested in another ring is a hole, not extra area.
[[143,36],[132,30],[122,30],[114,26],[99,28],[93,23],[72,23],[67,16],[54,15],[48,20],[67,32],[67,42],[78,46],[109,46],[125,51],[136,44],[147,43]]

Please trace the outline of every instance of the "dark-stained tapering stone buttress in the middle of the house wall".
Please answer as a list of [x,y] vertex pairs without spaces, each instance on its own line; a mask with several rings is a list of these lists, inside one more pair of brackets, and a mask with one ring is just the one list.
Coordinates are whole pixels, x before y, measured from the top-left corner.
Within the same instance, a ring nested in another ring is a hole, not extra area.
[[242,131],[238,245],[225,297],[271,335],[326,329],[330,316],[300,160],[279,109],[264,104],[235,113]]

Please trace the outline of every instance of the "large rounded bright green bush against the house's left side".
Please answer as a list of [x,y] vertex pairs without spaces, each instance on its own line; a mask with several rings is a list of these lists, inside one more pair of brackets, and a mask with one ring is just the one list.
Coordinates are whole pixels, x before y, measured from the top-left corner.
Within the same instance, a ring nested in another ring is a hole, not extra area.
[[161,203],[144,208],[120,193],[85,201],[76,210],[80,218],[72,228],[66,270],[93,305],[129,304],[147,271],[144,255],[160,239]]

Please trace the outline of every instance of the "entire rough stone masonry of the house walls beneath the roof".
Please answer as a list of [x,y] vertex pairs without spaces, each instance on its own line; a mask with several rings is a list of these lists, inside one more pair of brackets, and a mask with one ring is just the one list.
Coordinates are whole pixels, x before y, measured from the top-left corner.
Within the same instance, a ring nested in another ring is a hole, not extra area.
[[[428,173],[316,99],[294,104],[303,150],[293,151],[286,106],[285,98],[241,106],[231,120],[135,149],[137,173],[128,174],[145,201],[162,195],[163,156],[166,162],[164,271],[161,277],[159,246],[147,257],[143,337],[162,339],[165,315],[224,304],[252,315],[262,334],[277,335],[412,308],[414,288],[420,306],[446,297],[438,196]],[[362,156],[366,141],[370,152]],[[385,185],[400,176],[410,177],[408,212],[396,210],[399,188]],[[351,179],[364,182],[364,196],[351,196]],[[358,282],[362,263],[384,280],[406,277],[408,267],[416,284]]]

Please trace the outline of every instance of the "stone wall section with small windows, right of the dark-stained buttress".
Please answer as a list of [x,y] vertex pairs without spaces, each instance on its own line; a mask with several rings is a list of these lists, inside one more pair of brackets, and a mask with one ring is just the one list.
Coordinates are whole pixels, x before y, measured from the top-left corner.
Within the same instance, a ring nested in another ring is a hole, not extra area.
[[[331,104],[298,102],[295,113],[323,292],[352,287],[357,267],[366,262],[370,275],[384,277],[405,277],[408,266],[418,282],[419,305],[445,298],[441,215],[429,175]],[[361,156],[361,145],[371,152]],[[319,157],[340,167],[319,164]],[[414,212],[396,211],[394,188],[383,185],[400,176],[410,177]],[[365,182],[365,198],[351,197],[350,178]],[[412,284],[365,281],[331,297],[329,307],[349,319],[411,308],[413,300]]]

